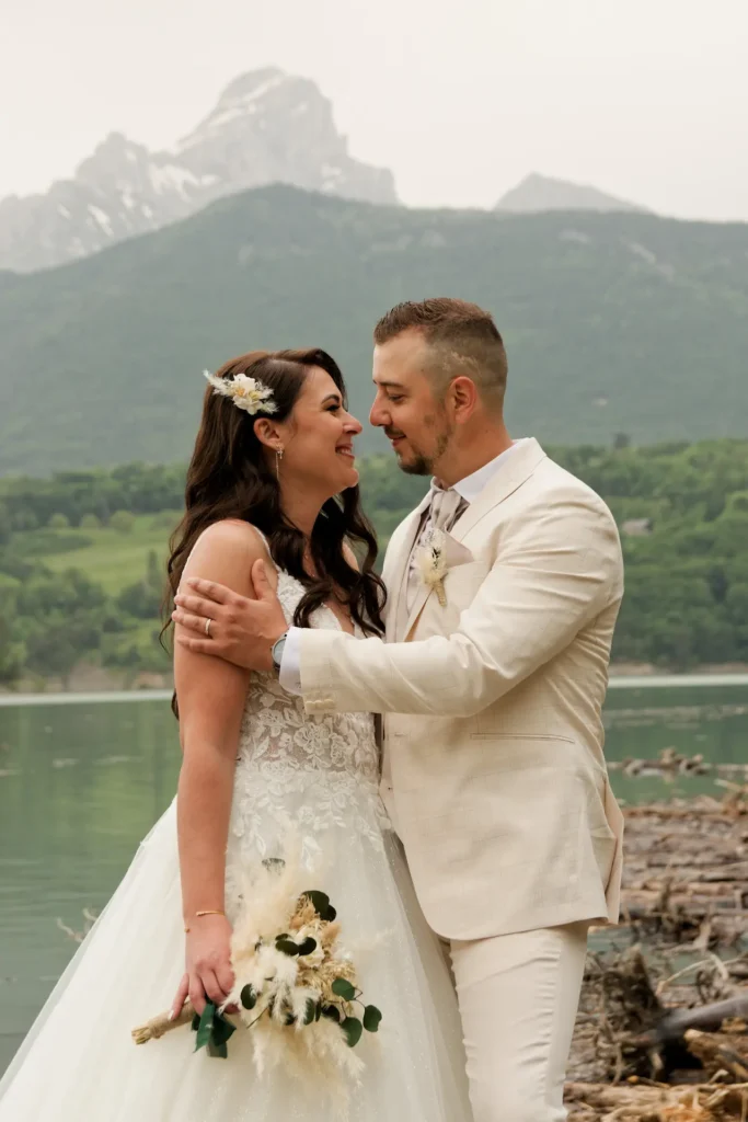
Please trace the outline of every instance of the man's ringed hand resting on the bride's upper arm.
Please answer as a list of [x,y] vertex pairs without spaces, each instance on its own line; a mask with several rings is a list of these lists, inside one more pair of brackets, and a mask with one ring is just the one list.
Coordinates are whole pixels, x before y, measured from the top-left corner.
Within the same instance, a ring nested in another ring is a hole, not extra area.
[[177,643],[247,670],[273,670],[273,645],[288,625],[264,561],[252,565],[256,599],[212,580],[191,578],[185,586],[175,597],[172,619],[192,634],[177,635]]

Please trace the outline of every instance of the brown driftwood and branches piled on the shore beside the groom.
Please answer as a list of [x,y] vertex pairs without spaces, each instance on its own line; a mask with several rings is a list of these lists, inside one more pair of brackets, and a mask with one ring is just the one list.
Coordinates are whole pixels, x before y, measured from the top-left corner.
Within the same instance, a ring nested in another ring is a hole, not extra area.
[[748,788],[721,785],[625,809],[624,923],[588,958],[571,1122],[748,1122]]

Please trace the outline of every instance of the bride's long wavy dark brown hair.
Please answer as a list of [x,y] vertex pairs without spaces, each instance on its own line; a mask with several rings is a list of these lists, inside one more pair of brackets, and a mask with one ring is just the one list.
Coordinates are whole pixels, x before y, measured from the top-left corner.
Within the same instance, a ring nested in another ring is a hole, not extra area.
[[[345,401],[340,368],[323,350],[251,351],[231,359],[216,377],[246,374],[257,378],[273,390],[276,405],[273,419],[286,421],[312,367],[326,370]],[[200,535],[214,522],[241,518],[265,534],[278,568],[304,586],[304,596],[294,614],[297,627],[308,627],[315,608],[338,595],[344,598],[353,623],[366,635],[381,635],[385,586],[373,571],[377,539],[361,509],[359,488],[349,487],[322,507],[308,543],[318,574],[311,577],[304,568],[305,536],[283,511],[278,481],[255,433],[257,417],[269,415],[260,410],[251,416],[237,408],[230,397],[215,394],[210,386],[205,390],[200,431],[187,469],[185,513],[169,542],[167,619],[187,558]],[[360,571],[345,557],[347,542],[360,558]],[[169,622],[164,629],[168,626]]]

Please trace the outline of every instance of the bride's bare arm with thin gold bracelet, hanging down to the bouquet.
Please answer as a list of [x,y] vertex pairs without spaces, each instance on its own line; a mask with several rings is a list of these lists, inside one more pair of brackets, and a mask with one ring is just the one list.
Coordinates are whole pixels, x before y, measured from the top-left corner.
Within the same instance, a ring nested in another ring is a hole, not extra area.
[[[265,555],[251,527],[238,522],[216,523],[195,544],[183,579],[210,577],[237,592],[251,595],[252,562]],[[183,751],[177,833],[182,903],[188,929],[185,975],[175,997],[175,1012],[187,994],[197,1012],[202,1012],[205,994],[221,1004],[233,984],[229,921],[222,914],[196,913],[218,913],[224,908],[233,773],[249,677],[247,670],[175,646]]]

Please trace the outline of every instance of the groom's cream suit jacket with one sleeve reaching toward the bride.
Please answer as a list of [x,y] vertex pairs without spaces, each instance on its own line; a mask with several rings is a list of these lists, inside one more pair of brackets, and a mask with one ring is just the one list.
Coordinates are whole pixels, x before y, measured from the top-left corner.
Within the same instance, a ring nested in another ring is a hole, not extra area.
[[622,596],[616,523],[523,441],[446,540],[446,604],[406,606],[427,499],[396,530],[386,642],[305,629],[307,711],[384,717],[382,795],[426,919],[479,939],[618,918],[622,816],[601,707]]

